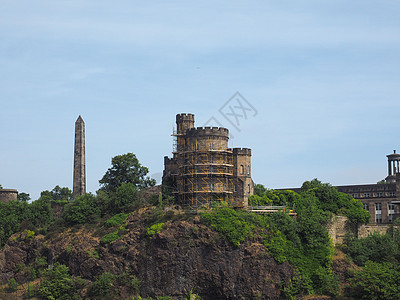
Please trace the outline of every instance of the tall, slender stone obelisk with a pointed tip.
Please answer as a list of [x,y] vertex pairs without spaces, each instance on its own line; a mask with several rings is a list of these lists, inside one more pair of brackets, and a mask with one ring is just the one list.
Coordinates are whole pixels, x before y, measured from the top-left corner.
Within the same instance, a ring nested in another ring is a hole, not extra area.
[[74,187],[72,196],[86,194],[85,122],[81,116],[75,122]]

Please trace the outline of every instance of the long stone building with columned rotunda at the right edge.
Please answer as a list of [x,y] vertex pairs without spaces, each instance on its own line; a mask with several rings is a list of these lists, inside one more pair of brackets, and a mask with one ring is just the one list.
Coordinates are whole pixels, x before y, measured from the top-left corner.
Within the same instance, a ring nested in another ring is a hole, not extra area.
[[[388,176],[377,184],[336,186],[339,192],[360,199],[364,209],[371,214],[370,223],[388,224],[400,216],[400,154],[387,155]],[[299,192],[300,188],[290,189]]]

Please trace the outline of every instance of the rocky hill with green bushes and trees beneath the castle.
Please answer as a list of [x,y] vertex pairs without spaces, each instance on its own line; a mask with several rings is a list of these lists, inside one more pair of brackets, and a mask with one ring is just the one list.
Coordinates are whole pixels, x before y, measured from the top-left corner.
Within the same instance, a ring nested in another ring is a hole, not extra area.
[[[339,282],[325,225],[332,214],[354,223],[369,218],[359,200],[316,179],[299,194],[256,185],[250,205],[285,205],[295,218],[226,206],[197,215],[168,206],[161,189],[147,193],[154,182],[133,154],[112,165],[96,195],[72,200],[69,189],[56,187],[32,203],[0,203],[0,281],[19,291],[25,284],[25,296],[43,299],[183,299],[193,291],[204,299],[335,296]],[[376,272],[381,278],[398,272],[400,237],[370,239],[347,243],[346,253],[365,266],[349,273],[348,295],[363,297]],[[379,261],[379,251],[392,254]]]

